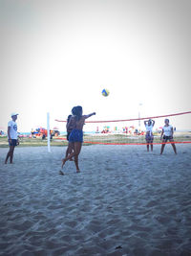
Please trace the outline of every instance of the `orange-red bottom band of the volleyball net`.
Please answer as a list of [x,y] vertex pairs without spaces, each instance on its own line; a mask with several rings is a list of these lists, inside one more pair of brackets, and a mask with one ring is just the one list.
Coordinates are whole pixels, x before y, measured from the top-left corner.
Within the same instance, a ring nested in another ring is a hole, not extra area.
[[[56,138],[57,140],[64,140],[66,138]],[[100,144],[100,145],[160,145],[160,144],[188,144],[191,141],[173,141],[173,142],[156,142],[156,143],[113,143],[113,142],[94,142],[94,141],[84,141],[83,143],[90,143],[90,144]]]

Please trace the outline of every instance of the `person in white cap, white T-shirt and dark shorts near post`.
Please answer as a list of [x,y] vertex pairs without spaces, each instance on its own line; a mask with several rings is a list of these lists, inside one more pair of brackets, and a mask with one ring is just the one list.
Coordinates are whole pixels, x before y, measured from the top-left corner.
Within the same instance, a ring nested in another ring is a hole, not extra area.
[[6,156],[5,164],[8,163],[8,159],[10,157],[10,163],[12,164],[14,148],[18,143],[18,133],[17,133],[17,113],[11,113],[11,121],[8,123],[8,141],[10,145],[10,151]]

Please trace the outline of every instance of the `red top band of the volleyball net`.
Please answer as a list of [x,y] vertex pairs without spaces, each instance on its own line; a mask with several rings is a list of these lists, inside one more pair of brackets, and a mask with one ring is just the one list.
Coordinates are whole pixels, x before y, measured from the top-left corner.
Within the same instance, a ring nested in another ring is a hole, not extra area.
[[[145,119],[154,119],[154,118],[161,118],[161,117],[168,117],[168,116],[178,116],[178,115],[185,115],[190,114],[191,111],[187,112],[180,112],[176,114],[168,114],[168,115],[161,115],[161,116],[150,116],[150,117],[141,117],[141,118],[132,118],[132,119],[124,119],[124,120],[110,120],[110,121],[86,121],[86,123],[112,123],[112,122],[126,122],[126,121],[136,121],[136,120],[145,120]],[[62,120],[55,119],[56,122],[67,122]]]

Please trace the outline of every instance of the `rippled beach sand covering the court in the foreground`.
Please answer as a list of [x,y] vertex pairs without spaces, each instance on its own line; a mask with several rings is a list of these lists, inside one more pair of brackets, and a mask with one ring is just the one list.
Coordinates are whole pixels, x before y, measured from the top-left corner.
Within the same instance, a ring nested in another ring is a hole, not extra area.
[[191,255],[191,145],[0,149],[0,255]]

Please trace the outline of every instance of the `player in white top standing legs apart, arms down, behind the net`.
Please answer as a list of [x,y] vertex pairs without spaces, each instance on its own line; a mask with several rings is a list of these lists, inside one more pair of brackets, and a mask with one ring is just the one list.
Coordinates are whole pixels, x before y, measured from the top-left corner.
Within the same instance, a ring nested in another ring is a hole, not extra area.
[[[174,133],[174,130],[173,130],[173,127],[169,125],[169,119],[165,119],[164,120],[164,127],[162,128],[162,131],[161,131],[161,136],[160,136],[160,140],[162,139],[162,144],[161,145],[161,150],[160,150],[160,154],[162,154],[163,150],[164,150],[164,147],[165,147],[165,143],[169,140],[170,142],[174,142],[173,140],[173,133]],[[162,137],[163,136],[163,137]],[[171,143],[172,147],[173,147],[173,150],[174,152],[177,154],[177,149],[176,149],[176,146],[174,143]]]

